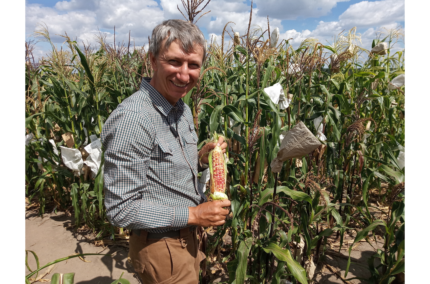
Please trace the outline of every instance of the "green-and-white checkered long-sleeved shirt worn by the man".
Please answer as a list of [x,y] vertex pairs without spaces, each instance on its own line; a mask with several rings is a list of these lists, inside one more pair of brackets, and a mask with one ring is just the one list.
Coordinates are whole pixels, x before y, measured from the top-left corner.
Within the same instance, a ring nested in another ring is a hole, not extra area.
[[[108,220],[162,233],[185,228],[188,207],[206,201],[197,183],[197,134],[190,108],[172,106],[142,79],[101,131]],[[177,129],[175,138],[170,125]]]

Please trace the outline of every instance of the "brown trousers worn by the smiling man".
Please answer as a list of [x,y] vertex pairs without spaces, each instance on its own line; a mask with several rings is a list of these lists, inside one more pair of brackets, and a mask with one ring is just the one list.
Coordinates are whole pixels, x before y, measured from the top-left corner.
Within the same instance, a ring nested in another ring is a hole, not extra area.
[[180,230],[174,238],[147,238],[147,231],[131,234],[129,257],[144,284],[198,284],[200,262],[197,230]]

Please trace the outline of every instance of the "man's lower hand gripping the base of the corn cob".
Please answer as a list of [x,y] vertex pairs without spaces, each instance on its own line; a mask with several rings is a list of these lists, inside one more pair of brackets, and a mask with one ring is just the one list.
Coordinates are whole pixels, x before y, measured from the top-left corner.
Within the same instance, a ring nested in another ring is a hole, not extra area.
[[230,205],[230,200],[223,199],[205,202],[196,207],[188,207],[188,225],[202,227],[224,225],[225,217],[229,211],[223,207]]

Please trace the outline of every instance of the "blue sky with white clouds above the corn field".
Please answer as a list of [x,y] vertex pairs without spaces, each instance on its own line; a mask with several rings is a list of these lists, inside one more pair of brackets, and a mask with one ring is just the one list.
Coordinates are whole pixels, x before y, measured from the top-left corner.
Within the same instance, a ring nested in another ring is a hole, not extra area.
[[[177,5],[184,10],[181,0],[26,0],[26,37],[31,40],[37,24],[44,23],[58,46],[64,38],[55,34],[64,32],[79,43],[94,44],[95,34],[101,31],[113,43],[115,27],[117,44],[123,40],[127,43],[130,32],[132,45],[147,46],[148,35],[157,24],[169,18],[183,18]],[[252,7],[252,24],[265,30],[268,16],[270,30],[279,27],[279,38],[293,38],[290,43],[295,47],[308,37],[330,44],[343,30],[356,27],[362,35],[359,45],[371,49],[381,27],[405,27],[404,0],[255,0]],[[215,37],[220,42],[229,21],[234,22],[227,26],[230,34],[232,29],[241,35],[246,32],[250,8],[250,0],[211,0],[204,10],[211,12],[196,24],[209,42]],[[227,33],[225,36],[224,40],[230,40]],[[35,57],[46,56],[49,48],[47,43],[37,43]],[[394,51],[403,48],[404,43],[398,43]]]

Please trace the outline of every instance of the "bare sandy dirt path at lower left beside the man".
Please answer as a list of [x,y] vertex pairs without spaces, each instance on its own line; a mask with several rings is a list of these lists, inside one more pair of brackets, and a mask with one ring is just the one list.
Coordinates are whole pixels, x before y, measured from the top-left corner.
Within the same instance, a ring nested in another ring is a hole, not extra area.
[[[40,266],[72,253],[99,253],[103,250],[103,247],[96,247],[84,236],[74,233],[73,229],[64,229],[71,223],[71,218],[64,213],[45,214],[43,218],[37,217],[37,214],[26,214],[25,249],[33,250],[37,254]],[[75,284],[111,284],[124,272],[123,278],[129,280],[131,284],[141,283],[134,269],[127,263],[126,247],[109,246],[101,253],[115,254],[113,257],[86,256],[84,258],[91,262],[84,262],[78,257],[67,262],[62,261],[55,264],[54,270],[43,279],[51,279],[55,272],[75,272]],[[33,270],[37,267],[31,253],[28,255],[28,264]],[[29,273],[27,268],[25,272],[26,275]]]

